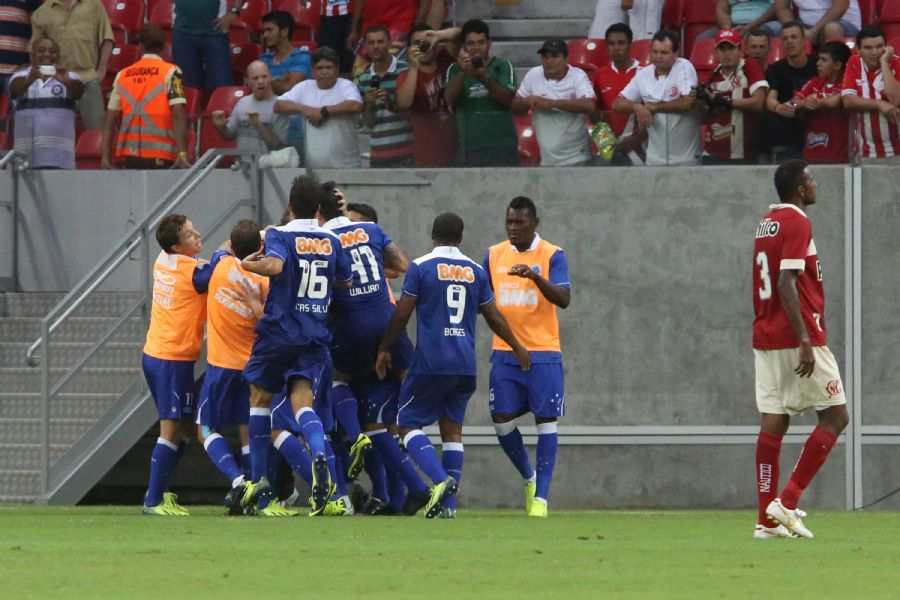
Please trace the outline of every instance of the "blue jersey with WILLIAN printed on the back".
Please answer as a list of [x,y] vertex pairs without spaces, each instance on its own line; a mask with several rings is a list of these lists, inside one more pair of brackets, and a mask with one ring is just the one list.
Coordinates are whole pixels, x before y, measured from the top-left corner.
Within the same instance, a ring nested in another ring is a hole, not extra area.
[[334,309],[350,312],[389,304],[384,276],[384,249],[391,245],[388,234],[377,223],[354,222],[347,217],[332,219],[323,228],[338,236],[353,270],[353,287],[335,291]]

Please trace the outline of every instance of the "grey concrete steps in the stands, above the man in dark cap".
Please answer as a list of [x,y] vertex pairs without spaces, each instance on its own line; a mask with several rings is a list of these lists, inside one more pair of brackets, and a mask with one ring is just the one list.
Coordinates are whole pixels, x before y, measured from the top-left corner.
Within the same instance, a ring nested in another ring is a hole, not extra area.
[[466,0],[458,3],[456,20],[484,20],[491,28],[491,52],[512,61],[521,82],[528,69],[540,64],[537,51],[545,39],[587,37],[595,6],[594,0]]

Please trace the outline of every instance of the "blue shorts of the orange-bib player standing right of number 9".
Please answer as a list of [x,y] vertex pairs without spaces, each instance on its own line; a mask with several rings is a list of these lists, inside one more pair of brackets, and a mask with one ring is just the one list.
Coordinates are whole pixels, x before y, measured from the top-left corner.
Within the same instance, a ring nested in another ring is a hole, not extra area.
[[491,414],[561,417],[566,408],[562,363],[532,363],[530,371],[518,365],[494,363],[490,378]]

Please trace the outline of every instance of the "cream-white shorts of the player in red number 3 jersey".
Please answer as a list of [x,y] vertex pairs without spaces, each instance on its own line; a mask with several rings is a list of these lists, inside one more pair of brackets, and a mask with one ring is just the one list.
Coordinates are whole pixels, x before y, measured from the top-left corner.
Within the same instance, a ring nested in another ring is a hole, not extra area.
[[813,346],[816,368],[811,377],[794,369],[800,362],[798,348],[753,350],[756,362],[756,407],[761,413],[799,415],[815,408],[847,403],[837,361],[828,346]]

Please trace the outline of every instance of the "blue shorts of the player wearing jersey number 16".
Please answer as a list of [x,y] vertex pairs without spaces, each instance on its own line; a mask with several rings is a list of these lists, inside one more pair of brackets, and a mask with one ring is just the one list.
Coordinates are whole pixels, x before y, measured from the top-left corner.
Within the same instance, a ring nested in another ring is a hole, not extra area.
[[258,337],[244,367],[244,379],[277,394],[295,377],[312,381],[325,362],[331,365],[328,350],[322,346],[283,346]]

